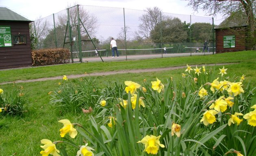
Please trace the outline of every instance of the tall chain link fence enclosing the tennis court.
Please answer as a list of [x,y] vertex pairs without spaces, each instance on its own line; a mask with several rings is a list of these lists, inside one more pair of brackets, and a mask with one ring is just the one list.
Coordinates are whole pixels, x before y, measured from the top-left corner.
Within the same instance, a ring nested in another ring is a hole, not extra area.
[[72,62],[113,61],[111,37],[119,52],[115,60],[215,51],[213,18],[163,13],[157,7],[141,11],[76,5],[31,24],[35,48],[68,48]]

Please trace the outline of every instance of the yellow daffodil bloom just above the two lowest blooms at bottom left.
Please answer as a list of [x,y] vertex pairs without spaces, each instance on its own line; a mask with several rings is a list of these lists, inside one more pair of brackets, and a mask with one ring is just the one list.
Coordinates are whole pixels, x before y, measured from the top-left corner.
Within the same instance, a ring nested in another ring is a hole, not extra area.
[[68,119],[59,120],[58,122],[62,123],[64,126],[60,129],[61,137],[63,138],[67,133],[71,138],[75,138],[77,135],[76,128],[73,127],[71,122]]

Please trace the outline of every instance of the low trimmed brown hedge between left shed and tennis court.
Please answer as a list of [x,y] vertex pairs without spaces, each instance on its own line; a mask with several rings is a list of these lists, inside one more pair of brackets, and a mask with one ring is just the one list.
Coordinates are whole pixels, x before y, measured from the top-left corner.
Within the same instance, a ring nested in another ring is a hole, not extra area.
[[69,63],[68,49],[40,49],[32,51],[33,66]]

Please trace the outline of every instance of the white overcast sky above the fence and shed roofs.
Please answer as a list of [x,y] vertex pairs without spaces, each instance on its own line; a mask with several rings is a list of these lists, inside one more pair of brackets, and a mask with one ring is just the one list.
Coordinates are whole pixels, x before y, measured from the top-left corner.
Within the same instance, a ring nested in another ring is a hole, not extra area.
[[[157,6],[165,13],[206,16],[202,11],[194,12],[187,3],[185,0],[0,0],[0,7],[7,7],[32,21],[58,13],[74,4],[137,10]],[[222,20],[221,16],[214,17],[215,24],[220,24]]]

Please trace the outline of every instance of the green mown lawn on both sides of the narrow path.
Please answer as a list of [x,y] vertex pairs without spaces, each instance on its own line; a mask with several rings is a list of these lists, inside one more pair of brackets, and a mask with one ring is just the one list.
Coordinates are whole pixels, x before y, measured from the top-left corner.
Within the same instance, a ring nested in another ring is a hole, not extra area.
[[[98,72],[104,71],[104,67],[108,64],[108,71],[110,70],[121,70],[121,69],[142,69],[152,67],[152,63],[154,67],[169,67],[171,65],[189,65],[193,64],[205,64],[205,63],[224,63],[224,62],[240,62],[239,64],[233,65],[225,65],[225,68],[228,68],[227,72],[230,76],[242,76],[245,74],[244,84],[251,83],[252,87],[256,86],[256,72],[255,72],[255,57],[256,52],[235,52],[235,53],[226,53],[209,56],[193,56],[186,58],[167,58],[165,59],[153,59],[153,60],[145,60],[145,61],[124,61],[124,62],[115,62],[115,63],[80,63],[74,65],[57,65],[57,66],[49,66],[49,67],[38,67],[38,68],[29,68],[26,69],[26,74],[21,79],[28,79],[27,74],[33,73],[33,78],[39,78],[38,75],[50,77],[59,76],[59,75],[69,75],[72,70],[77,69],[77,74],[81,74],[79,72],[84,73],[86,67],[83,67],[83,70],[80,69],[82,66],[90,66],[92,69],[88,69],[87,71]],[[206,58],[205,58],[206,57]],[[241,57],[241,60],[239,60]],[[220,62],[219,60],[220,59]],[[163,61],[165,63],[163,63]],[[206,62],[209,61],[209,62]],[[93,65],[92,65],[93,64]],[[77,66],[77,67],[76,67]],[[96,67],[95,67],[96,66]],[[124,67],[123,67],[124,66]],[[67,67],[67,71],[65,72],[65,68]],[[193,66],[194,67],[194,66]],[[46,72],[45,75],[40,72],[39,69],[42,69]],[[54,68],[55,71],[58,71],[59,74],[51,72],[50,70]],[[60,68],[60,70],[58,70]],[[207,67],[209,68],[209,67]],[[214,68],[214,67],[213,67]],[[216,66],[215,69],[218,71],[222,66]],[[7,74],[10,77],[13,77],[12,80],[7,79],[6,76],[3,76],[5,80],[1,81],[13,81],[20,78],[22,75],[22,71],[25,69],[12,69],[7,71],[1,71],[2,75]],[[154,81],[156,77],[166,83],[166,79],[169,77],[173,77],[177,82],[181,79],[181,73],[184,73],[184,69],[177,69],[171,71],[162,71],[162,72],[146,72],[146,73],[137,73],[137,74],[117,74],[117,75],[109,75],[109,76],[97,76],[91,77],[95,78],[95,82],[98,82],[100,87],[104,87],[104,84],[108,81],[119,81],[123,83],[125,80],[131,80],[137,83],[142,83],[143,79],[146,78],[147,81]],[[17,74],[15,74],[15,72]],[[24,71],[23,71],[24,72]],[[49,74],[49,75],[48,75]],[[74,74],[74,73],[72,73]],[[32,78],[31,77],[31,78]],[[78,78],[79,79],[79,78]],[[54,107],[49,104],[50,95],[48,95],[49,91],[56,90],[58,88],[58,82],[62,80],[48,80],[42,82],[29,82],[29,83],[19,83],[17,85],[21,85],[24,87],[24,92],[28,92],[29,101],[31,103],[28,108],[28,112],[24,114],[22,117],[0,117],[0,153],[2,156],[11,156],[16,153],[18,156],[40,156],[39,152],[40,148],[40,140],[41,139],[50,139],[50,140],[59,140],[59,129],[62,127],[62,124],[57,121],[60,119],[69,119],[70,121],[76,121],[80,124],[87,125],[88,115],[82,113],[71,114],[65,113],[61,114],[58,110],[54,110]],[[13,84],[0,85],[0,88],[7,89],[12,87]]]

